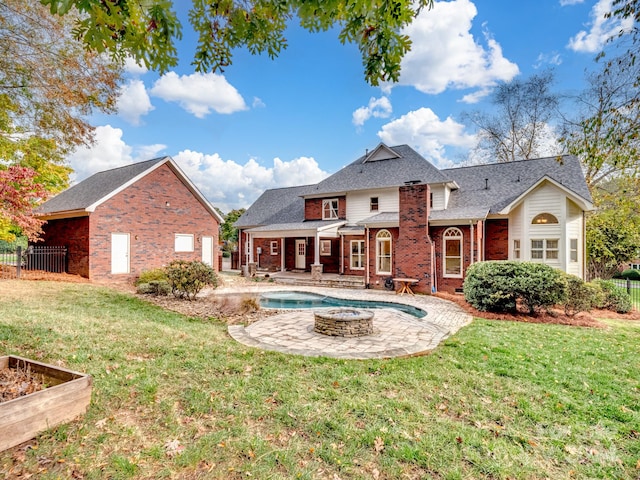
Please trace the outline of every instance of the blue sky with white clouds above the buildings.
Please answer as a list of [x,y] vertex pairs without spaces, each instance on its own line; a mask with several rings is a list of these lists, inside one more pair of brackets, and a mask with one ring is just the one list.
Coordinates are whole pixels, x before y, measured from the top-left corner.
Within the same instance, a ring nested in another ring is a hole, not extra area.
[[364,81],[357,48],[337,31],[295,25],[275,60],[239,50],[224,73],[196,73],[185,9],[180,64],[163,76],[128,66],[117,114],[92,117],[95,145],[69,158],[74,181],[170,155],[226,213],[265,189],[316,183],[380,142],[452,166],[475,143],[460,114],[488,109],[500,82],[553,67],[559,93],[582,90],[585,70],[621,28],[604,20],[610,8],[611,0],[436,2],[406,32],[413,47],[400,81],[381,87]]

